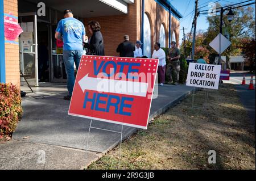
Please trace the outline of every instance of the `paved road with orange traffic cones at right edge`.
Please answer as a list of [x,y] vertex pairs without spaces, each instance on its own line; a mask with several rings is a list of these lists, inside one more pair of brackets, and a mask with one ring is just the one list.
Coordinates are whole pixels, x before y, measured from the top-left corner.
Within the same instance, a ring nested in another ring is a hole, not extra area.
[[[245,75],[246,85],[241,85],[243,75]],[[248,90],[251,75],[253,75],[253,84],[254,84],[254,90]],[[250,74],[246,72],[233,72],[230,74],[230,81],[224,81],[224,83],[233,83],[236,85],[236,89],[238,92],[238,95],[241,98],[241,102],[243,106],[245,107],[251,123],[253,123],[255,128],[255,74]]]

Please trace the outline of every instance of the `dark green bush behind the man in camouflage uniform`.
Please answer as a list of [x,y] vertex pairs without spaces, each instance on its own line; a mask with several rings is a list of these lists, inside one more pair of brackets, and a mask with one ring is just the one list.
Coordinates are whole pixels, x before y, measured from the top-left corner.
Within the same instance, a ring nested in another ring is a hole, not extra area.
[[[167,55],[168,55],[168,48],[162,48],[164,50],[164,52],[166,53],[166,64],[169,63],[169,60],[167,59]],[[188,74],[188,64],[187,61],[185,60],[185,56],[184,54],[180,54],[180,79],[179,79],[179,83],[185,83],[186,79],[187,79],[187,74]],[[172,73],[172,78],[175,79],[175,75],[174,73]],[[166,82],[169,81],[169,77],[166,76]]]

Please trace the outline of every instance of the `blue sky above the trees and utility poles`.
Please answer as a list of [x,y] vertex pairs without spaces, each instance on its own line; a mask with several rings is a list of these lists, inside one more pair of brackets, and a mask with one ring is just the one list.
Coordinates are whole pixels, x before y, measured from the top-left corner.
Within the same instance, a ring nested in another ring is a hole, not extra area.
[[[198,7],[200,10],[208,10],[210,7],[208,7],[210,2],[215,2],[217,0],[199,0],[198,2]],[[232,5],[234,3],[240,3],[244,2],[246,0],[229,0],[229,1],[218,1],[222,6],[226,5]],[[254,2],[254,1],[251,1]],[[175,7],[176,10],[180,12],[181,15],[183,15],[183,18],[180,19],[180,29],[183,27],[187,30],[185,30],[185,34],[189,33],[191,31],[192,27],[192,22],[193,22],[193,17],[195,15],[195,0],[172,0],[171,1],[172,5]],[[250,2],[247,2],[250,3]],[[246,3],[245,3],[246,4]],[[254,7],[255,9],[255,4],[250,5]],[[201,7],[201,8],[200,8]],[[192,12],[192,13],[191,13]],[[226,10],[224,14],[227,14],[228,11]],[[220,12],[217,12],[217,15],[220,14]],[[203,30],[206,31],[208,28],[208,23],[207,23],[207,15],[200,15],[199,18],[197,18],[197,27],[196,30]],[[183,38],[183,30],[180,30],[180,43]]]

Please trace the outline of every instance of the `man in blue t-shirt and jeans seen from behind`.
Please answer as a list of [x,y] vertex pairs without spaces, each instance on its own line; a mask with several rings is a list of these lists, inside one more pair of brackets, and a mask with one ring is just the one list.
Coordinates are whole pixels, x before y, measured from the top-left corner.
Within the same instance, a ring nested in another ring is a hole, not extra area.
[[67,73],[68,92],[65,100],[70,100],[75,85],[74,62],[79,68],[85,42],[84,24],[73,18],[72,11],[64,10],[64,19],[61,19],[55,32],[55,38],[63,41],[63,60]]

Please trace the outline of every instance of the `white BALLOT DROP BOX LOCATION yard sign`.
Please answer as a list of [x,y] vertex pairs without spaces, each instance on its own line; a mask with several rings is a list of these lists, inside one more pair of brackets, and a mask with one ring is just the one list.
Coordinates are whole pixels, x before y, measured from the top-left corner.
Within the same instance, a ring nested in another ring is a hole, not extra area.
[[187,86],[218,89],[221,65],[190,63]]

